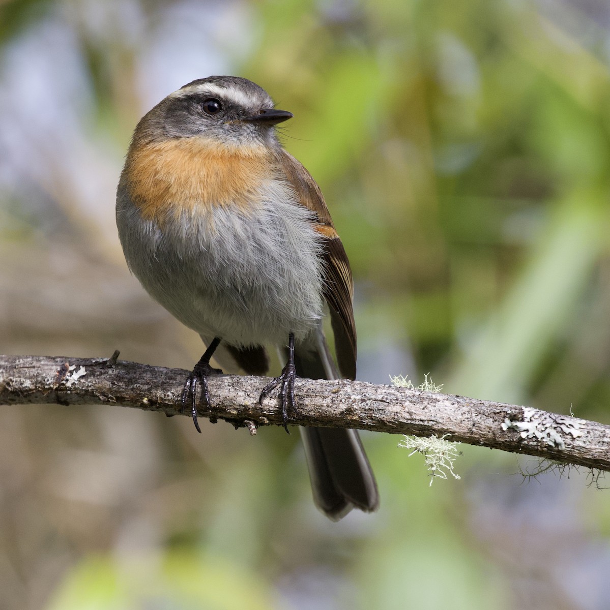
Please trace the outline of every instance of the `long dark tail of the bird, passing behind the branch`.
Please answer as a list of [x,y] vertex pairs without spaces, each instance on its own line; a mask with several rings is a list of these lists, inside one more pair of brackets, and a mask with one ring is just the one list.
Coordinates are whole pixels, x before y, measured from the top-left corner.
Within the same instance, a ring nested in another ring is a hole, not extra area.
[[[297,375],[339,379],[324,335],[316,351],[295,350]],[[300,428],[316,506],[333,521],[352,508],[371,512],[379,506],[377,483],[356,430]]]

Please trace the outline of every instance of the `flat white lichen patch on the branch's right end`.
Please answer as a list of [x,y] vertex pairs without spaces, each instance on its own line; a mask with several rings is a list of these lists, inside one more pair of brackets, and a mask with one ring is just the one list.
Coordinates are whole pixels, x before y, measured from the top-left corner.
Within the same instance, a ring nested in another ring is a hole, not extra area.
[[517,430],[522,439],[538,439],[550,447],[563,449],[564,437],[573,439],[583,436],[584,420],[567,415],[553,415],[532,407],[523,408],[523,421],[508,417],[502,423],[503,430]]

